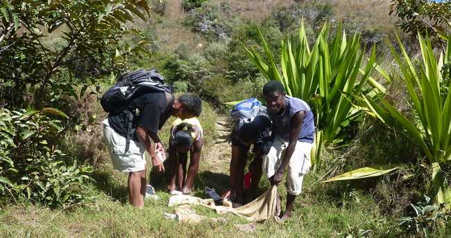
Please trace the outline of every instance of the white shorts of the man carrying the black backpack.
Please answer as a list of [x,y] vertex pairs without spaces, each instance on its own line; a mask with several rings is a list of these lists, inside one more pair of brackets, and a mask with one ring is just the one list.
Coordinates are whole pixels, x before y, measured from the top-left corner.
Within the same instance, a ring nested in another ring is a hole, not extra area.
[[103,137],[110,152],[114,170],[121,172],[138,172],[146,169],[146,149],[141,143],[130,140],[128,152],[126,152],[126,138],[117,134],[108,124],[108,119],[103,120]]

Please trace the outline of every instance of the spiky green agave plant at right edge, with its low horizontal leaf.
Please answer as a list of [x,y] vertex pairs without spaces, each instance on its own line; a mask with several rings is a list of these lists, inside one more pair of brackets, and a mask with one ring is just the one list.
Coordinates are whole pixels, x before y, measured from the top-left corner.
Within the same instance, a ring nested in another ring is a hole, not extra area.
[[[416,145],[427,157],[432,167],[432,195],[437,203],[451,202],[450,184],[445,180],[441,165],[451,160],[451,95],[447,90],[451,86],[450,68],[451,42],[445,54],[441,53],[437,58],[431,41],[418,34],[422,60],[412,61],[398,38],[401,55],[389,44],[395,62],[399,65],[402,80],[407,86],[407,91],[413,105],[414,117],[409,119],[393,107],[386,99],[380,97],[377,100],[362,96],[368,104],[368,109],[387,125],[397,122],[407,131],[412,143]],[[418,66],[416,66],[418,65]],[[443,67],[443,66],[447,67]],[[448,74],[448,82],[443,78],[442,68]],[[441,84],[444,86],[441,87]],[[418,119],[416,119],[418,118]],[[384,172],[389,172],[385,167]],[[390,170],[391,171],[391,170]],[[360,178],[368,174],[383,174],[380,168],[366,170],[366,173],[348,172],[341,175],[340,180]],[[381,173],[382,172],[382,173]],[[377,175],[379,175],[377,174]],[[328,181],[335,181],[330,178]]]

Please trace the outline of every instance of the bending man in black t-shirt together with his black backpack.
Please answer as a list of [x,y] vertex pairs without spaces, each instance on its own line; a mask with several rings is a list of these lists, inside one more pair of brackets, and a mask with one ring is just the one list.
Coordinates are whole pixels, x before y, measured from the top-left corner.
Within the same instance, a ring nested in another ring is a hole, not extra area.
[[105,142],[113,168],[128,172],[128,195],[133,206],[144,206],[144,152],[150,154],[152,165],[164,172],[165,150],[159,129],[170,116],[181,119],[199,116],[200,102],[201,99],[191,93],[176,98],[156,71],[141,70],[123,75],[103,95],[101,104],[109,113],[103,121]]

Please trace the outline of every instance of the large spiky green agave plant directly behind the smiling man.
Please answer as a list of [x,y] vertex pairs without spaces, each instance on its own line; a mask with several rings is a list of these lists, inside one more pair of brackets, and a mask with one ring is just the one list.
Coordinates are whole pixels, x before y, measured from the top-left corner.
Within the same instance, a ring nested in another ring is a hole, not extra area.
[[326,23],[310,50],[301,22],[298,42],[293,42],[291,37],[282,40],[279,63],[258,27],[257,31],[266,59],[255,49],[244,46],[250,60],[269,80],[282,82],[288,95],[314,106],[318,132],[312,158],[317,167],[321,162],[318,158],[321,158],[323,143],[336,143],[343,125],[359,113],[359,109],[352,107],[346,95],[361,93],[368,80],[377,84],[369,77],[374,68],[375,48],[371,51],[366,68],[362,70],[364,51],[361,49],[359,34],[356,33],[348,40],[339,25],[337,34],[329,42],[330,25]]

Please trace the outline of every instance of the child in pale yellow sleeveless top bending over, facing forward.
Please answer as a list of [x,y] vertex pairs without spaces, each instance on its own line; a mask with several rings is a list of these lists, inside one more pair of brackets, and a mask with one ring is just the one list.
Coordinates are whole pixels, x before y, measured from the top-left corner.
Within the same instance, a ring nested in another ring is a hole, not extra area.
[[[203,147],[203,129],[197,118],[177,119],[171,128],[169,138],[169,163],[171,174],[168,190],[178,190],[183,194],[192,191],[197,176]],[[188,152],[190,155],[187,170]]]

